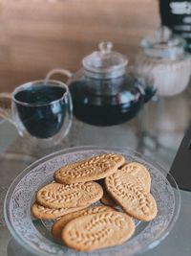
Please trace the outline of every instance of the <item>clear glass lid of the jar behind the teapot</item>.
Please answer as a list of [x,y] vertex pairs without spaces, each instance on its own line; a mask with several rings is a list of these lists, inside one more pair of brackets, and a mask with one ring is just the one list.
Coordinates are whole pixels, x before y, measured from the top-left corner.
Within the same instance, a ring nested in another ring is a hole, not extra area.
[[184,57],[185,40],[162,26],[153,37],[144,38],[141,46],[147,56],[154,58],[179,59]]

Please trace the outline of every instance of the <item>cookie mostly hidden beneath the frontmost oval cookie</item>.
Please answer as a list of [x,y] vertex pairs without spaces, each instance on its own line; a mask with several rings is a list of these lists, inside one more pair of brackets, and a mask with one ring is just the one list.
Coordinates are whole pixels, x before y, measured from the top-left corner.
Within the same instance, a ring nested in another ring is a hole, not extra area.
[[81,216],[86,216],[86,215],[96,214],[96,213],[102,213],[102,212],[106,212],[106,211],[114,211],[114,209],[111,208],[111,207],[108,207],[108,206],[98,205],[98,206],[83,209],[81,211],[76,211],[72,214],[67,214],[67,215],[63,216],[62,218],[60,218],[59,220],[57,220],[53,223],[53,227],[52,227],[53,238],[55,240],[59,240],[61,238],[62,229],[64,228],[64,226],[69,221],[72,221],[75,218],[78,218],[78,217],[81,217]]

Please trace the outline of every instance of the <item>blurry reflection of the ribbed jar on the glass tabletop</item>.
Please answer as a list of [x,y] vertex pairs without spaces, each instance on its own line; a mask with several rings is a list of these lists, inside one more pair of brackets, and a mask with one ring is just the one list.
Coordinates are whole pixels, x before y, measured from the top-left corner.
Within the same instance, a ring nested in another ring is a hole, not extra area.
[[[182,132],[188,127],[190,103],[180,96],[154,98],[143,114],[144,142],[147,147],[176,151]],[[152,121],[152,122],[151,122]]]

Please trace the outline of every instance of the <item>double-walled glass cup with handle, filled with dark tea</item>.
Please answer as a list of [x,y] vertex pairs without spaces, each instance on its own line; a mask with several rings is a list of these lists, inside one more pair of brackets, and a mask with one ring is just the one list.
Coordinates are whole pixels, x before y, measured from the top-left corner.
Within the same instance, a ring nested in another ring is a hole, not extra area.
[[[1,93],[0,116],[27,140],[53,146],[69,132],[73,104],[68,86],[61,81],[30,81],[11,93]],[[10,105],[9,105],[10,103]]]

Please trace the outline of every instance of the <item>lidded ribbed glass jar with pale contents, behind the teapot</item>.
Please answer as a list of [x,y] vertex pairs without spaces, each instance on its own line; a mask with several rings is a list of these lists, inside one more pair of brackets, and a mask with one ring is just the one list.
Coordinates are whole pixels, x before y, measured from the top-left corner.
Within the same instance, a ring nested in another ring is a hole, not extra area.
[[175,96],[188,85],[191,58],[184,51],[185,41],[161,27],[155,36],[141,41],[142,51],[135,63],[135,72],[146,84],[157,88],[159,96]]

